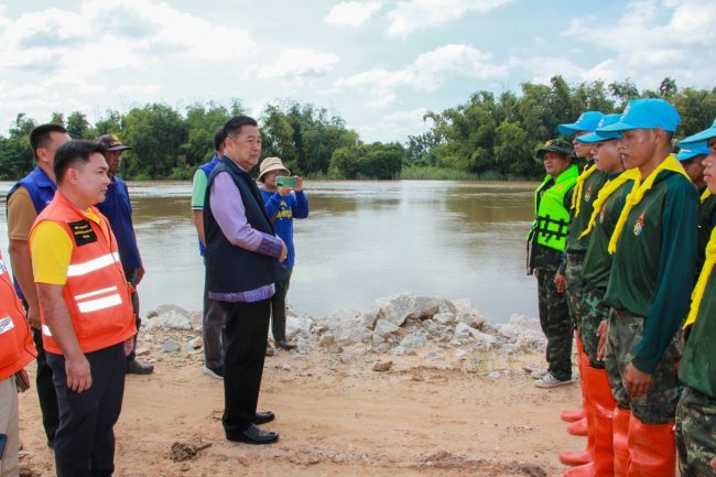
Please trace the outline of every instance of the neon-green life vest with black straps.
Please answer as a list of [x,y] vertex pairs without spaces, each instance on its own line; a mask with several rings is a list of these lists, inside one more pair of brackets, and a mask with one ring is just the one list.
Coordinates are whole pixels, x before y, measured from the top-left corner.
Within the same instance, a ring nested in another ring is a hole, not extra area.
[[578,175],[579,169],[573,164],[546,191],[544,188],[552,182],[551,175],[534,191],[534,221],[528,241],[564,251],[569,225],[569,210],[564,207],[564,196],[574,187]]

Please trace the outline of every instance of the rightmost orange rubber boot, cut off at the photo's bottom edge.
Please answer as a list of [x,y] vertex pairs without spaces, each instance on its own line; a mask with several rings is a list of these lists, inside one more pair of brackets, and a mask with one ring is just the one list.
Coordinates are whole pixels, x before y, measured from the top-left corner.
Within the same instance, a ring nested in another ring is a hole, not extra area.
[[676,443],[674,423],[644,424],[629,420],[629,470],[627,477],[674,477]]

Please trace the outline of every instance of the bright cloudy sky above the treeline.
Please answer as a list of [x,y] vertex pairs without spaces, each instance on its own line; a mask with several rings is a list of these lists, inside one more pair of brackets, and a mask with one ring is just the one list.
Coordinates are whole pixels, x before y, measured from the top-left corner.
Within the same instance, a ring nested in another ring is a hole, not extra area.
[[241,99],[328,108],[366,141],[561,74],[716,86],[716,1],[0,0],[0,133],[18,112]]

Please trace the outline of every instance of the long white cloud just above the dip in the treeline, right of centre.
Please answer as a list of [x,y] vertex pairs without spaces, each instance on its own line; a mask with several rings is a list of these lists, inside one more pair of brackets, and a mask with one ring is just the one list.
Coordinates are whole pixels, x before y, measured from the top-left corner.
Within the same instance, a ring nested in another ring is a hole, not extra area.
[[337,86],[362,88],[380,96],[387,96],[387,93],[401,86],[433,91],[454,76],[480,79],[505,76],[507,65],[491,63],[491,59],[490,53],[481,52],[471,45],[444,45],[421,54],[402,69],[388,71],[376,67],[340,78]]

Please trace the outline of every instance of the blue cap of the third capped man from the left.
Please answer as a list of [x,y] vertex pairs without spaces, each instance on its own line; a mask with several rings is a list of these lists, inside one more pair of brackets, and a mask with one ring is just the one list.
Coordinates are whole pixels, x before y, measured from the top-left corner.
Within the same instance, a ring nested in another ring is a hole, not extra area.
[[597,134],[605,132],[627,131],[629,129],[655,129],[674,132],[681,121],[681,116],[673,106],[663,99],[632,99],[621,113],[619,121],[600,129]]

